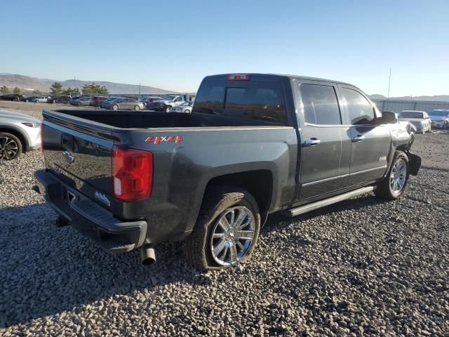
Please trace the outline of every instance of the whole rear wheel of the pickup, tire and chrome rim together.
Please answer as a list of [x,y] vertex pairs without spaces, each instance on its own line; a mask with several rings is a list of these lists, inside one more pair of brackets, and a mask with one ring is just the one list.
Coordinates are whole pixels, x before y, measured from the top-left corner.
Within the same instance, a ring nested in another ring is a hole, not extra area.
[[[184,244],[186,260],[200,272],[235,267],[251,255],[257,244],[260,232],[257,202],[249,192],[232,187],[215,190],[205,200],[208,201],[201,206],[194,230]],[[233,212],[237,227],[227,226],[226,231],[223,220],[226,218],[229,224]],[[244,224],[240,228],[239,216]]]

